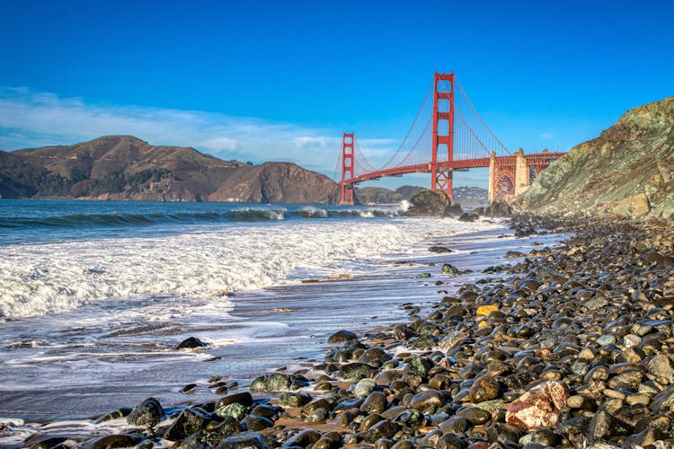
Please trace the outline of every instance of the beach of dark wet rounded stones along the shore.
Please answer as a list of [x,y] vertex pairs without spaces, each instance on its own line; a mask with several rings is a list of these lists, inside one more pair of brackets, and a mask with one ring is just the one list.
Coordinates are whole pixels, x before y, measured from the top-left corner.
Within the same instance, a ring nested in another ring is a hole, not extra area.
[[119,435],[36,434],[23,445],[671,447],[671,225],[513,221],[515,235],[573,237],[510,254],[511,264],[485,269],[430,313],[409,304],[407,322],[338,331],[323,362],[263,375],[248,391],[215,377],[212,386],[226,394],[217,402],[170,416],[148,399],[100,418],[125,420]]

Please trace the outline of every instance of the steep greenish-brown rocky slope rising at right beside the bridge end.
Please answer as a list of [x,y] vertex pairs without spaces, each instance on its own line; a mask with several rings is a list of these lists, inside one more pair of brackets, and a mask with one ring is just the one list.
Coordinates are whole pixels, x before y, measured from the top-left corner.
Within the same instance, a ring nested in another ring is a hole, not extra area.
[[674,97],[629,110],[573,147],[515,205],[540,213],[674,216]]

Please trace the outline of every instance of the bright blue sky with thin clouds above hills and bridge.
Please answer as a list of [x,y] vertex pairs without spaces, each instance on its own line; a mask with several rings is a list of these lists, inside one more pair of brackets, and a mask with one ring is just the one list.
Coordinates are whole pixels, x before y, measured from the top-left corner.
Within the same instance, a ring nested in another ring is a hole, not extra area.
[[510,150],[565,151],[674,94],[672,17],[666,1],[0,0],[0,148],[132,134],[332,174],[342,131],[385,162],[453,70]]

